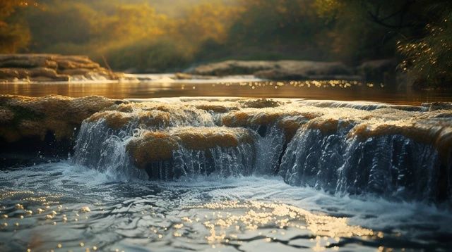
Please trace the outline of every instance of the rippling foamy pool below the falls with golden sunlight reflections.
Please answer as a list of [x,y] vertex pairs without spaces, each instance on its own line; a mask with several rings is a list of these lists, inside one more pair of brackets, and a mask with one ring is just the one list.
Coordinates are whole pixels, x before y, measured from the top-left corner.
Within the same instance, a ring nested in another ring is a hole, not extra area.
[[[2,172],[1,251],[447,251],[452,217],[277,177],[120,182],[67,162]],[[20,205],[18,205],[20,204]],[[5,225],[6,223],[6,225]],[[61,248],[60,248],[61,247]]]

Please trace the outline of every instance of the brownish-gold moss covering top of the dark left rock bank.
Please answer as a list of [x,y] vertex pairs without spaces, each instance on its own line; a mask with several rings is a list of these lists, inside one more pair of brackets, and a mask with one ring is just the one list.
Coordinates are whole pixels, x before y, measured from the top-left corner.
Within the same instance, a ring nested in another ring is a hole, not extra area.
[[85,118],[117,102],[100,96],[69,98],[3,95],[0,96],[0,107],[4,110],[0,138],[8,142],[18,141],[21,137],[44,140],[47,132],[51,132],[57,140],[70,139],[74,128],[79,127]]

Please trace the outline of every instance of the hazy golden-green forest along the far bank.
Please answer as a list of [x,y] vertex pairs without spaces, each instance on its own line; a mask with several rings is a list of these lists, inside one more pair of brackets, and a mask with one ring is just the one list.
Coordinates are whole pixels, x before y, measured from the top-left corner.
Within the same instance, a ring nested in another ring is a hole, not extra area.
[[450,87],[451,26],[448,0],[7,0],[0,53],[85,54],[133,73],[226,59],[395,58],[401,72]]

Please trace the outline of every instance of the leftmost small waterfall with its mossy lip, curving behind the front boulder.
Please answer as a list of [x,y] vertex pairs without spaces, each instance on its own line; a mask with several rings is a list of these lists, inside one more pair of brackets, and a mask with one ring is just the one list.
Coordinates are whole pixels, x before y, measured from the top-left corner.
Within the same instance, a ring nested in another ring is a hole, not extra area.
[[85,165],[114,177],[147,179],[144,170],[131,164],[126,146],[144,130],[170,127],[213,126],[212,115],[191,106],[166,103],[121,104],[112,111],[96,113],[83,121],[76,140],[73,163]]

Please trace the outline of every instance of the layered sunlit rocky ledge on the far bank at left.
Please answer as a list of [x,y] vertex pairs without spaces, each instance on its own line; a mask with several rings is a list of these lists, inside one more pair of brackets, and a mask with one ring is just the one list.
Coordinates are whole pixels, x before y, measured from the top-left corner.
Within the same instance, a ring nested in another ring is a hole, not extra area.
[[0,82],[136,80],[114,73],[91,61],[88,56],[59,54],[0,54]]

